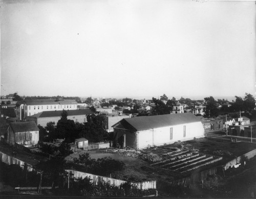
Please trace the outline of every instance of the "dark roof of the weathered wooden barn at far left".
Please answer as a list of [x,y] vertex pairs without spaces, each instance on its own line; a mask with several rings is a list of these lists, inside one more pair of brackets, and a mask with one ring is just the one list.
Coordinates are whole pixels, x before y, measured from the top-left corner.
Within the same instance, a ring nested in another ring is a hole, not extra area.
[[27,132],[39,130],[35,122],[11,122],[13,132]]

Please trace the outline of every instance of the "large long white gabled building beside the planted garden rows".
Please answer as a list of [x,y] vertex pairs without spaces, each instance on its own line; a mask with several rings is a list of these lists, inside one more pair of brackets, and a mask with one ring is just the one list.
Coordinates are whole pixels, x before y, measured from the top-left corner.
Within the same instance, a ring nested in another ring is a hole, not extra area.
[[125,118],[113,128],[114,146],[135,149],[204,137],[201,120],[191,113]]

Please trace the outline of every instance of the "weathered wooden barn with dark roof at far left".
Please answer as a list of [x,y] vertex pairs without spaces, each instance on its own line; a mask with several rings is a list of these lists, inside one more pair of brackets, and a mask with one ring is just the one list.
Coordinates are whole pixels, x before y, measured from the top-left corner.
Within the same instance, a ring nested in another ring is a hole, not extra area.
[[7,128],[6,142],[14,145],[34,145],[39,141],[39,128],[35,122],[11,122]]

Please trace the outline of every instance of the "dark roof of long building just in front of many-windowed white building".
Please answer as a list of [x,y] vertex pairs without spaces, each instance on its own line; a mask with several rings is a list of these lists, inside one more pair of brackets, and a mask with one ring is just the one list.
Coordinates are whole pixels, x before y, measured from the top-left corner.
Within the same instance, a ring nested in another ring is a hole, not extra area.
[[[28,116],[31,118],[49,118],[49,117],[61,117],[63,110],[44,111],[38,114]],[[90,109],[77,109],[77,110],[66,110],[68,116],[79,116],[79,115],[92,115],[93,112]]]

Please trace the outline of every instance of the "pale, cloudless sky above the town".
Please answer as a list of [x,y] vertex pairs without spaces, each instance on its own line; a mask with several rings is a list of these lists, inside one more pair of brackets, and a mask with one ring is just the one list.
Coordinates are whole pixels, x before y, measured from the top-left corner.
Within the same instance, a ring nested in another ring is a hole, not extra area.
[[255,6],[1,1],[1,95],[254,95]]

